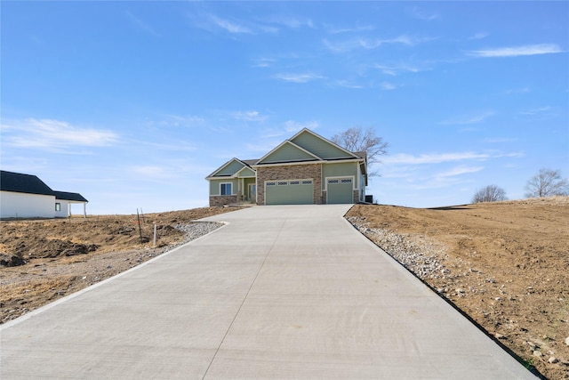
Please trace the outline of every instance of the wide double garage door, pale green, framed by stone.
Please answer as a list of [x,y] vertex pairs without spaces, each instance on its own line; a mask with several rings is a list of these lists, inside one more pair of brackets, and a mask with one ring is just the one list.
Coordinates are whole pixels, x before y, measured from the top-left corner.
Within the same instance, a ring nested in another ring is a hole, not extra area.
[[265,205],[312,205],[312,180],[265,182]]

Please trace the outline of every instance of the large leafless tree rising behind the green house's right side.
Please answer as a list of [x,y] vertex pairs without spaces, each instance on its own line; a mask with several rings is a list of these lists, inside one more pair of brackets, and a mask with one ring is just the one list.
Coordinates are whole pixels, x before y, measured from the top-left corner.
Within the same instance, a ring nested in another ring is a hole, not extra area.
[[[369,165],[381,163],[380,156],[388,153],[389,143],[377,136],[373,128],[363,129],[353,126],[346,131],[334,134],[332,141],[351,152],[365,151]],[[377,172],[369,175],[379,175]]]

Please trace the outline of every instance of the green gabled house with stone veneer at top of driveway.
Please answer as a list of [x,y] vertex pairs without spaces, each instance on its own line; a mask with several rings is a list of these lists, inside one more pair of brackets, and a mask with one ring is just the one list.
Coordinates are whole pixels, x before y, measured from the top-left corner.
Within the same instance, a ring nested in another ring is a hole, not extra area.
[[210,206],[323,205],[365,200],[365,152],[350,152],[307,128],[260,159],[232,158],[206,177]]

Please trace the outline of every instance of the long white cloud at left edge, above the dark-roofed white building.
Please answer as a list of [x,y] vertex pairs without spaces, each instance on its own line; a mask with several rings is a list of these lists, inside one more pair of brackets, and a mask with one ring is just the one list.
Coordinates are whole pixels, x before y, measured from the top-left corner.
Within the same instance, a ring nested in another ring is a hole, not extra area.
[[2,125],[3,143],[18,148],[65,151],[74,147],[103,147],[114,144],[112,131],[82,128],[52,119],[28,118]]

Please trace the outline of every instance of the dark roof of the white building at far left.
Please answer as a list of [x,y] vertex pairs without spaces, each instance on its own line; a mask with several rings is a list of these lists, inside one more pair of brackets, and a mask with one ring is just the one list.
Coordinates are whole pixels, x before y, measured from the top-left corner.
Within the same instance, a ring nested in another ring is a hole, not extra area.
[[52,195],[56,199],[88,202],[87,199],[76,192],[53,191],[42,180],[32,174],[21,174],[0,170],[0,190],[23,192],[26,194]]

